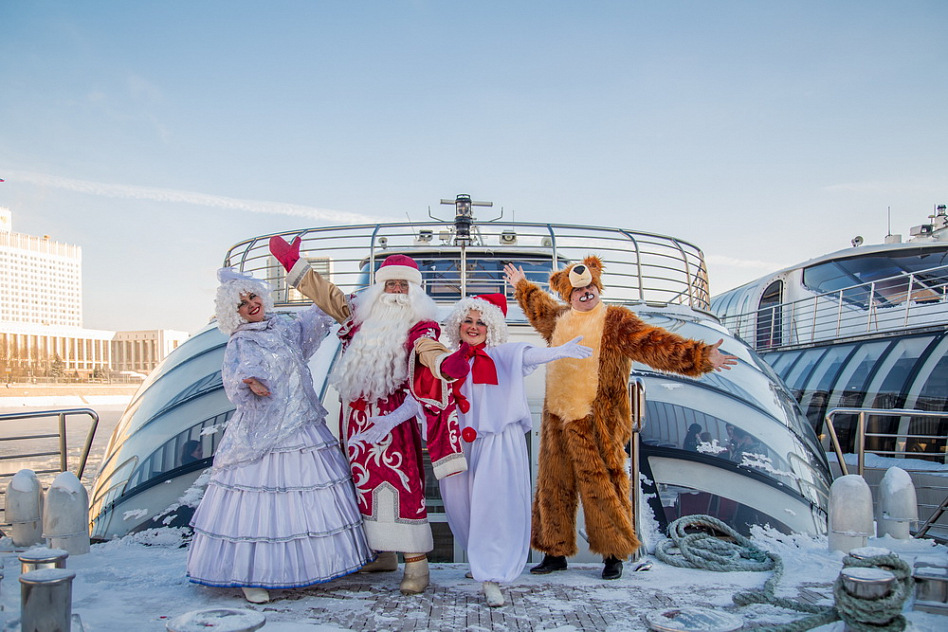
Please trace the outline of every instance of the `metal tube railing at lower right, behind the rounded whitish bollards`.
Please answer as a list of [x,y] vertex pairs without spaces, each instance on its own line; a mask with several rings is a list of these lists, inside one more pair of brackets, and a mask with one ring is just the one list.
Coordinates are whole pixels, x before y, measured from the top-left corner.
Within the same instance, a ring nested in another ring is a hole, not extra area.
[[[942,453],[940,454],[940,461],[942,463],[948,463],[948,452],[945,451],[945,441],[946,436],[944,434],[919,434],[908,431],[900,431],[895,433],[883,433],[883,432],[870,432],[867,428],[867,416],[879,416],[879,417],[901,417],[905,419],[918,419],[918,418],[948,418],[948,412],[932,411],[932,410],[918,410],[914,408],[832,408],[826,413],[826,430],[829,434],[830,441],[833,446],[833,451],[836,453],[837,463],[839,464],[840,472],[843,476],[849,474],[849,466],[846,464],[845,459],[843,458],[843,449],[839,441],[839,436],[836,432],[836,426],[833,423],[833,419],[839,415],[856,415],[856,436],[855,436],[855,450],[856,450],[856,473],[859,476],[864,476],[867,469],[878,469],[870,468],[866,465],[866,455],[875,454],[881,457],[888,458],[897,458],[899,460],[899,467],[909,473],[932,473],[931,468],[927,467],[918,467],[913,468],[907,466],[907,460],[911,459],[921,459],[926,458],[926,460],[931,458],[930,453],[918,453],[912,450],[907,449],[909,444],[917,444],[918,442],[928,441],[928,442],[938,442],[941,444]],[[905,428],[908,428],[908,424],[903,424]],[[894,440],[894,445],[896,449],[894,450],[884,450],[884,449],[868,449],[866,447],[867,439],[879,439],[883,443],[892,442]],[[930,463],[931,461],[928,460]],[[919,465],[921,466],[923,461],[919,460]],[[939,472],[944,470],[937,470]],[[933,491],[941,492],[946,494],[946,501],[948,501],[948,486],[940,487],[938,489],[933,489]],[[926,521],[921,525],[921,527],[916,532],[917,537],[921,537],[932,527],[932,525],[941,517],[942,513],[945,511],[946,505],[948,502],[943,501],[940,505],[932,505],[919,503],[919,507],[925,507],[931,511],[930,515]]]

